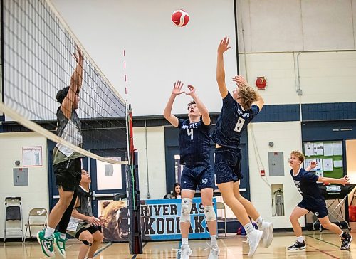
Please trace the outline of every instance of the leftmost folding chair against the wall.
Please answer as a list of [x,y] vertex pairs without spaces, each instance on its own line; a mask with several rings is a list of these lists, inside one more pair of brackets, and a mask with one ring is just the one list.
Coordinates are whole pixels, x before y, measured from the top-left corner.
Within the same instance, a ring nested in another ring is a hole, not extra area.
[[[8,221],[19,221],[19,228],[8,228]],[[21,232],[23,241],[21,197],[5,197],[4,242],[6,242],[6,232]]]

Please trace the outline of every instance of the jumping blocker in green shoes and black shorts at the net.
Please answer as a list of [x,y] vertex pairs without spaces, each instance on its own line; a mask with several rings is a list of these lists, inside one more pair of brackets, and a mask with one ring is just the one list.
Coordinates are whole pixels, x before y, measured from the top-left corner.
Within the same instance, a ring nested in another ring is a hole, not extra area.
[[[80,120],[75,112],[79,104],[79,92],[83,83],[83,55],[77,46],[78,54],[74,54],[77,66],[70,78],[70,85],[59,90],[56,99],[61,104],[57,110],[57,134],[71,144],[81,147],[83,136]],[[53,171],[58,185],[59,201],[48,216],[46,230],[37,233],[43,253],[48,257],[54,256],[53,242],[58,253],[66,258],[66,230],[72,213],[77,189],[81,179],[82,154],[57,144],[53,149]],[[58,226],[58,232],[54,232]]]

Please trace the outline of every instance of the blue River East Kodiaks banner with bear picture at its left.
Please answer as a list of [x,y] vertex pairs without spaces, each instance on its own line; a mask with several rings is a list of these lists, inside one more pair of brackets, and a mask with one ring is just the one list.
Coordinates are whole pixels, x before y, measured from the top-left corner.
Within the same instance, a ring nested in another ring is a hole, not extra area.
[[[103,226],[105,241],[127,241],[127,207],[123,201],[107,201],[102,204],[101,215],[108,223]],[[179,240],[182,238],[179,228],[181,199],[158,199],[141,201],[141,228],[143,240]],[[216,198],[213,198],[216,213]],[[210,238],[204,216],[201,198],[193,199],[189,239]]]

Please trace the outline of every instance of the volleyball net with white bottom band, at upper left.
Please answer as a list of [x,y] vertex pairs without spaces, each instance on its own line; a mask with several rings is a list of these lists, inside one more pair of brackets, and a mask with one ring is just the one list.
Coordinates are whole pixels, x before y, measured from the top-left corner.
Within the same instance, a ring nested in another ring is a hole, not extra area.
[[[19,123],[70,152],[110,164],[129,164],[126,159],[110,158],[125,157],[127,151],[126,102],[86,53],[51,1],[1,3],[3,127]],[[80,52],[83,65],[78,66]],[[75,93],[80,100],[78,107],[72,108],[78,113],[81,126],[72,125],[66,137],[63,134],[58,137],[57,112],[64,102],[59,103],[58,91],[69,86],[65,97],[70,98],[73,80],[80,90]]]

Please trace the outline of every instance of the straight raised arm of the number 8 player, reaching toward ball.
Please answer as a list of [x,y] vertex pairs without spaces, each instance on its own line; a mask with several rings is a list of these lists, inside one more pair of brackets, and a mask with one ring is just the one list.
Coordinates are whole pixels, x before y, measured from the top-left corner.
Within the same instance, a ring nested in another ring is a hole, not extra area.
[[224,52],[230,48],[229,41],[230,39],[227,37],[220,41],[216,61],[216,82],[218,83],[220,95],[223,99],[228,93],[225,83]]

